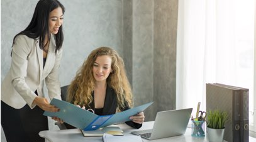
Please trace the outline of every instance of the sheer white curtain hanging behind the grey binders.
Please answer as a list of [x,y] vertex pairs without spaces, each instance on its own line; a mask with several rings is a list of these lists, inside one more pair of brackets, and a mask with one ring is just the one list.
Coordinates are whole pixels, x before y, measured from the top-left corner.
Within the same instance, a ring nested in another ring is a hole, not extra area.
[[[177,109],[198,102],[206,83],[250,89],[253,111],[254,0],[179,0]],[[254,71],[255,72],[255,71]]]

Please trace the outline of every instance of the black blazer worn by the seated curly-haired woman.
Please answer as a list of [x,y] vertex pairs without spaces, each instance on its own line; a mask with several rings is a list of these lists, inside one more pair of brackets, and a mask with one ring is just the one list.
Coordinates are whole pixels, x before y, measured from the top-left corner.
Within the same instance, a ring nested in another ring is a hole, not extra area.
[[[117,102],[117,98],[116,98],[116,92],[114,92],[114,89],[107,86],[106,97],[105,97],[103,112],[102,112],[101,116],[115,114],[117,106],[118,106],[118,102]],[[94,112],[95,112],[94,94],[93,93],[92,93],[92,103],[86,109],[89,109],[89,108],[94,110]],[[126,105],[125,109],[123,109],[122,111],[125,111],[127,109],[130,109],[130,107],[128,107]],[[136,129],[142,127],[142,124],[134,123],[133,121],[126,121],[125,123],[128,124],[129,126],[133,127],[133,128],[136,128]],[[70,126],[67,123],[64,123],[64,124],[67,127],[67,129],[73,129],[74,128],[73,126]]]

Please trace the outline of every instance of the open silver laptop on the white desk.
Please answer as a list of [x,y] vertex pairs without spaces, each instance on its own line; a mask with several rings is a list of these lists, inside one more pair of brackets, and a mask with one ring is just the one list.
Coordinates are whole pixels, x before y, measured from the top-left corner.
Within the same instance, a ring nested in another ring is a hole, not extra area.
[[132,131],[131,134],[146,139],[160,139],[182,135],[186,132],[192,108],[157,112],[153,129]]

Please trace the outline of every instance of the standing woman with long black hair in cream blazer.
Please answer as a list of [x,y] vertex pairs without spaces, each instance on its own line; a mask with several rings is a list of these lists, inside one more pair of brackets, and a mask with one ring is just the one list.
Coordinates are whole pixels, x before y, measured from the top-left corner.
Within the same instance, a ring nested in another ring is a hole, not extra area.
[[57,0],[40,0],[28,27],[13,38],[11,68],[1,85],[1,125],[7,141],[45,141],[43,111],[57,112],[43,95],[60,99],[58,68],[62,58],[65,8]]

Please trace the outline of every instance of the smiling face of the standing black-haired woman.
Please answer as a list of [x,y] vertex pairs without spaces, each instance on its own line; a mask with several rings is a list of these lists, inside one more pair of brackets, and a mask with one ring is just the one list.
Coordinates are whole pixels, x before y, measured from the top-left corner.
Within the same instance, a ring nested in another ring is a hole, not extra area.
[[62,23],[63,23],[63,13],[62,13],[62,9],[58,7],[50,12],[50,16],[49,16],[50,33],[52,33],[53,35],[56,35],[58,33],[58,28],[60,28]]

